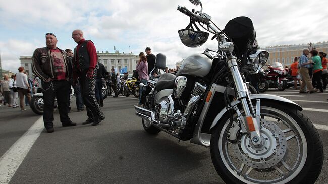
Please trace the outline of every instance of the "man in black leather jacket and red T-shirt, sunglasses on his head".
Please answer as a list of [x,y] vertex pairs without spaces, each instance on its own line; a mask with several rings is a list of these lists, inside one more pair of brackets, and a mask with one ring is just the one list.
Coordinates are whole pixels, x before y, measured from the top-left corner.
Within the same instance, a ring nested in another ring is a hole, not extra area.
[[69,76],[72,66],[67,52],[57,48],[57,38],[53,33],[45,34],[46,47],[35,49],[32,56],[32,71],[42,80],[43,122],[48,133],[53,129],[54,98],[63,127],[76,126],[68,117],[67,93],[70,90]]

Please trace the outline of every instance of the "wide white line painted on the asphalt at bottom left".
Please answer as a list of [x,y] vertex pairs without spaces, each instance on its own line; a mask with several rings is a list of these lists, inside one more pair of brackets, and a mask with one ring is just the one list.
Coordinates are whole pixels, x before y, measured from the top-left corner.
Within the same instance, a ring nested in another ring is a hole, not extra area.
[[0,183],[7,184],[44,129],[42,116],[0,158]]

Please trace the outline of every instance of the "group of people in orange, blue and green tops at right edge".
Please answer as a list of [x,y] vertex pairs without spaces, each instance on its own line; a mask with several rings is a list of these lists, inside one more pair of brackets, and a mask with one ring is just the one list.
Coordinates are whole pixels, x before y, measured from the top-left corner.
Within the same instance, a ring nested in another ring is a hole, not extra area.
[[316,93],[326,90],[327,86],[327,54],[304,48],[300,57],[294,58],[290,73],[294,79],[295,89],[297,81],[300,93]]

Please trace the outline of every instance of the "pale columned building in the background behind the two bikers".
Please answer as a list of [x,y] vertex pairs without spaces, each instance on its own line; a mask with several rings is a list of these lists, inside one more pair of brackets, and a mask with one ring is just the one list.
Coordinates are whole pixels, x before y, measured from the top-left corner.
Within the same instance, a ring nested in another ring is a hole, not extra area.
[[[110,71],[112,68],[117,68],[118,72],[127,68],[127,71],[132,74],[132,71],[136,69],[137,62],[139,60],[139,55],[134,55],[133,53],[120,53],[118,50],[115,53],[110,53],[109,51],[97,51],[99,57],[99,62],[102,63],[106,70]],[[25,68],[30,77],[32,76],[32,57],[31,56],[21,56],[19,58],[21,61],[21,66]]]

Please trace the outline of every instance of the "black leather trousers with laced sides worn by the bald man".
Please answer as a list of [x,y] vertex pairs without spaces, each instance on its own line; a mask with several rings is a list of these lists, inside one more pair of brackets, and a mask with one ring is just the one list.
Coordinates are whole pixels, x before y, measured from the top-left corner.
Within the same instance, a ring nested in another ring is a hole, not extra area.
[[95,97],[95,85],[96,85],[96,76],[97,70],[94,69],[92,79],[87,79],[88,69],[81,71],[78,74],[80,89],[81,89],[81,96],[83,99],[83,103],[86,106],[87,115],[90,119],[99,119],[103,116],[103,113],[100,111],[99,104]]

